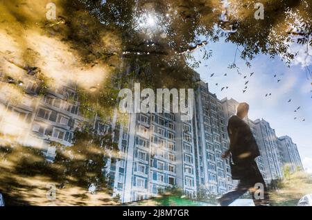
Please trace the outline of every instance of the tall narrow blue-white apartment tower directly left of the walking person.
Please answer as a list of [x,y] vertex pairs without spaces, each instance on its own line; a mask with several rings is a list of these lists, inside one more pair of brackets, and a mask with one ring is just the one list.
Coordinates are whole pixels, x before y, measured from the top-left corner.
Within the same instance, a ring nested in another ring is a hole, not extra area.
[[207,194],[223,194],[234,186],[229,160],[221,158],[229,146],[223,106],[204,82],[200,82],[196,94],[194,127],[198,188]]

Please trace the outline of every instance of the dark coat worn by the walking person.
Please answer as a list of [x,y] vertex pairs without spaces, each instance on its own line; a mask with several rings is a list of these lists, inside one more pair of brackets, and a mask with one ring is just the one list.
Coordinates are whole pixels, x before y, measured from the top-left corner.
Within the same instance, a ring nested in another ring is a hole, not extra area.
[[259,148],[246,122],[238,116],[229,118],[227,125],[229,134],[229,151],[235,164],[244,164],[254,161],[260,156]]

